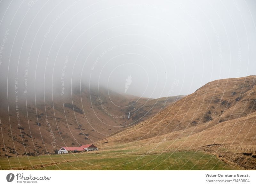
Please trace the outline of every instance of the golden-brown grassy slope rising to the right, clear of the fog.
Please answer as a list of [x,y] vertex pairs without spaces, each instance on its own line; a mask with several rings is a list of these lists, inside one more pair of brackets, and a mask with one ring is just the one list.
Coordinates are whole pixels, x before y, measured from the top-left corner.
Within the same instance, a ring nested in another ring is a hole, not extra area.
[[148,120],[106,138],[108,143],[100,140],[99,148],[142,155],[204,151],[255,170],[255,83],[256,76],[209,82]]

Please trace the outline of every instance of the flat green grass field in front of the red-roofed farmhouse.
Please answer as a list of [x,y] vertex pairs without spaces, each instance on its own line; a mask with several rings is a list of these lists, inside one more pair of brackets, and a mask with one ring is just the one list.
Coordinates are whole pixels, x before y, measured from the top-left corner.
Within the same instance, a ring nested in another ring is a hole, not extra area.
[[201,151],[158,154],[76,153],[0,159],[2,170],[238,170]]

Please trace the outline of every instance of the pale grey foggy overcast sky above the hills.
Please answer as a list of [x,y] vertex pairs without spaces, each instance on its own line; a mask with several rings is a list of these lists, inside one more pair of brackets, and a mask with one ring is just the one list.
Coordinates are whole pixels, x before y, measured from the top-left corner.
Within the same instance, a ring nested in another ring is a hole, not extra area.
[[20,94],[82,81],[157,98],[256,74],[256,1],[2,0],[0,21],[1,90],[17,78]]

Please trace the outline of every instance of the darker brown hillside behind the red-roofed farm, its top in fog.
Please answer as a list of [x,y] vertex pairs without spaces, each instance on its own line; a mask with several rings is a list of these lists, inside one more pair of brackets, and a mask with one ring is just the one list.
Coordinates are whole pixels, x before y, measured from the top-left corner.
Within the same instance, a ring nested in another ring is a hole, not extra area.
[[[62,146],[96,143],[152,117],[181,97],[170,97],[164,106],[166,98],[139,98],[106,89],[77,88],[72,96],[37,96],[27,98],[27,103],[20,99],[18,110],[12,98],[9,97],[9,105],[7,99],[1,99],[1,157],[48,154]],[[127,120],[129,111],[131,118]]]

